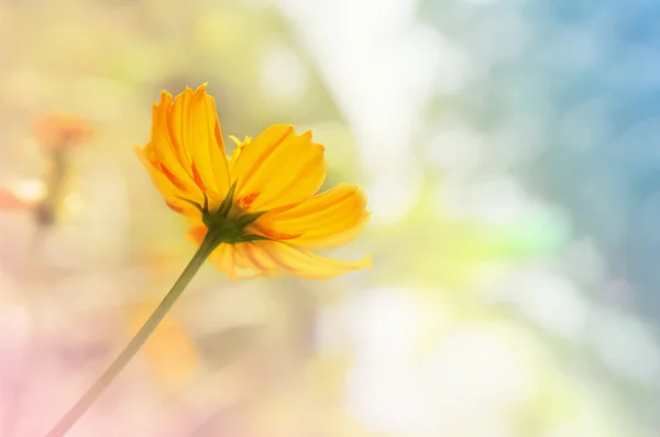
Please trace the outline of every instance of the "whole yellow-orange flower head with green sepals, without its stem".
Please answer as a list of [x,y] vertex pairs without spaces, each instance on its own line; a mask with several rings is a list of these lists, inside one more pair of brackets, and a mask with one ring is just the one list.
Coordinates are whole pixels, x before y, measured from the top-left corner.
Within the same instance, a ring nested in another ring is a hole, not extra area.
[[358,186],[317,194],[327,162],[311,132],[277,124],[234,141],[228,159],[215,100],[202,85],[174,99],[163,91],[151,142],[135,148],[166,204],[189,220],[188,238],[201,244],[209,232],[218,236],[209,255],[218,270],[232,280],[328,278],[371,266],[370,256],[349,262],[308,250],[350,242],[370,217]]

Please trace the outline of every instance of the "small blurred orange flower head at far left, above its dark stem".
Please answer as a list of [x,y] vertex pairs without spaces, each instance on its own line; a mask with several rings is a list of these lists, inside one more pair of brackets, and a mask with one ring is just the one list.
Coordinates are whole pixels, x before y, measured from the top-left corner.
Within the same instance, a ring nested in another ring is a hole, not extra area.
[[34,121],[32,133],[44,149],[58,150],[78,145],[91,135],[91,128],[84,119],[54,113]]

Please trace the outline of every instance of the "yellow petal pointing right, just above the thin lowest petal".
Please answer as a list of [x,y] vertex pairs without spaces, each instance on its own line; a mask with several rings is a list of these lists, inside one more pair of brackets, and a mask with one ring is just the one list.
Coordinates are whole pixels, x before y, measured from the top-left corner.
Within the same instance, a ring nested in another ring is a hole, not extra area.
[[290,209],[268,212],[255,226],[275,234],[300,236],[287,239],[288,244],[336,248],[352,241],[362,231],[370,217],[365,206],[366,197],[360,187],[340,184]]

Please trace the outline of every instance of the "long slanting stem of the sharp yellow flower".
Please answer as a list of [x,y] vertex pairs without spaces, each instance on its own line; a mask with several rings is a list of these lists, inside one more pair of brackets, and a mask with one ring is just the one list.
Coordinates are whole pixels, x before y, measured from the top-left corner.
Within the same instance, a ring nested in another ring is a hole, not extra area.
[[208,232],[199,249],[182,272],[180,276],[169,293],[163,298],[158,307],[144,323],[142,328],[131,339],[129,345],[121,351],[121,353],[114,359],[112,364],[96,380],[96,382],[87,390],[87,392],[69,408],[69,411],[59,419],[59,422],[46,434],[46,437],[62,437],[78,422],[80,417],[89,409],[96,398],[106,390],[108,385],[117,378],[117,375],[125,368],[125,365],[133,359],[135,353],[142,348],[144,342],[148,339],[151,334],[156,329],[158,324],[163,320],[163,317],[167,314],[172,305],[182,295],[190,280],[195,276],[201,264],[206,261],[208,255],[218,247],[221,239],[212,232]]

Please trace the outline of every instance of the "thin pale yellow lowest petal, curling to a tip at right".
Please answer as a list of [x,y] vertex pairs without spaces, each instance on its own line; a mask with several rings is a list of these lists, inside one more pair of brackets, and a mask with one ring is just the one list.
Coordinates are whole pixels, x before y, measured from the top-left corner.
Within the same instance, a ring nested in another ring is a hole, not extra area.
[[277,263],[284,273],[308,280],[327,280],[353,270],[372,266],[371,255],[360,261],[341,261],[280,242],[257,241],[254,245],[256,250],[263,251]]

